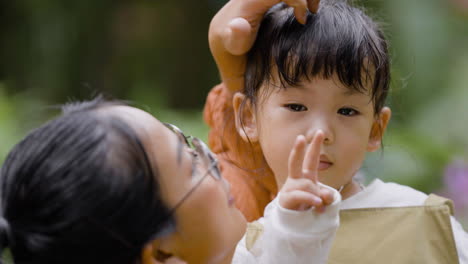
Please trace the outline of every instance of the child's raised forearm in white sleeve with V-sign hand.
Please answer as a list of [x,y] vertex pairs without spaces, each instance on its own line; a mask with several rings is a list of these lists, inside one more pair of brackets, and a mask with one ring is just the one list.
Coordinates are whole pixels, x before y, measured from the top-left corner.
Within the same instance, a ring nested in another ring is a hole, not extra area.
[[250,224],[233,262],[324,263],[339,223],[341,196],[318,182],[320,149],[325,139],[318,130],[307,145],[296,137],[289,154],[287,179],[265,216]]

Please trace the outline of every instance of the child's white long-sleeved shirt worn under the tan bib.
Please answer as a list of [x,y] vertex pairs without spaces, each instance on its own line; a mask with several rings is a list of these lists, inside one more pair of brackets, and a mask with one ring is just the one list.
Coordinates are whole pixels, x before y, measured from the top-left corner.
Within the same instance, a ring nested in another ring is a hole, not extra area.
[[[265,216],[258,220],[264,226],[263,235],[250,251],[244,236],[232,263],[326,263],[339,225],[339,208],[422,206],[428,196],[408,186],[376,179],[344,201],[339,195],[335,197],[337,199],[323,214],[284,209],[277,197],[265,208]],[[455,218],[451,217],[451,222],[459,262],[468,264],[468,234]]]

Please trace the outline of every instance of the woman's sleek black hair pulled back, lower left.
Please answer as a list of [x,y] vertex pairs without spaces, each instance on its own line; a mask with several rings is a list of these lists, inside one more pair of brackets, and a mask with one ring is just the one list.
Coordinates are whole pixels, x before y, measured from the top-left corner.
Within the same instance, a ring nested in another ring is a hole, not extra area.
[[32,131],[0,174],[0,246],[14,263],[140,262],[170,231],[158,170],[137,133],[96,100],[68,106]]

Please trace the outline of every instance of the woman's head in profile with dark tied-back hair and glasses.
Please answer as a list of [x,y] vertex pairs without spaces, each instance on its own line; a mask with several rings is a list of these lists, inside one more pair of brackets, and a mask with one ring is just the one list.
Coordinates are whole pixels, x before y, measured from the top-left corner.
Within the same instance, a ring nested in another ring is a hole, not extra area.
[[17,264],[149,264],[153,252],[230,263],[245,220],[216,160],[189,141],[136,108],[68,106],[3,164],[2,248]]

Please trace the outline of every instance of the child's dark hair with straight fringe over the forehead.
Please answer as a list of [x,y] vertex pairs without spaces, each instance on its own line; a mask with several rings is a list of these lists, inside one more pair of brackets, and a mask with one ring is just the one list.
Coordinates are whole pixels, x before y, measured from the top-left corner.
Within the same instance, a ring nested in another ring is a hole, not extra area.
[[321,1],[319,11],[309,13],[306,25],[299,24],[292,8],[281,3],[265,15],[248,53],[247,98],[255,104],[260,87],[276,73],[280,88],[337,76],[349,89],[369,92],[378,114],[389,91],[387,43],[377,24],[345,0]]

